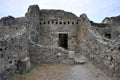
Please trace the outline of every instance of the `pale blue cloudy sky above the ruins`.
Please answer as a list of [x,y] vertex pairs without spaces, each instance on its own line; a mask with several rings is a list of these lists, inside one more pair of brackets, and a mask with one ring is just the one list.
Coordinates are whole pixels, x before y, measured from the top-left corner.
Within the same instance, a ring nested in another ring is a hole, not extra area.
[[40,9],[62,9],[78,17],[85,13],[98,23],[105,17],[120,15],[120,0],[0,0],[0,18],[22,17],[33,4],[39,5]]

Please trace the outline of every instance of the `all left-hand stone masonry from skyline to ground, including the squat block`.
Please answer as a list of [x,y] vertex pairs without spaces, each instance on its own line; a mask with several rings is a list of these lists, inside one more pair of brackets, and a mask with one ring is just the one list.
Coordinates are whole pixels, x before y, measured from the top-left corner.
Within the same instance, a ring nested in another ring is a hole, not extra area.
[[0,80],[30,69],[26,18],[0,19]]

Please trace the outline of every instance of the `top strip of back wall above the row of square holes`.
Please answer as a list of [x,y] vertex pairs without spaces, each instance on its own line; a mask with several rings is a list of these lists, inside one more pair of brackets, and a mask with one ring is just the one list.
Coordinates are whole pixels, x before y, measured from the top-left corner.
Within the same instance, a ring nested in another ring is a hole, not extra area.
[[63,20],[63,19],[78,19],[76,15],[64,10],[40,10],[41,19]]

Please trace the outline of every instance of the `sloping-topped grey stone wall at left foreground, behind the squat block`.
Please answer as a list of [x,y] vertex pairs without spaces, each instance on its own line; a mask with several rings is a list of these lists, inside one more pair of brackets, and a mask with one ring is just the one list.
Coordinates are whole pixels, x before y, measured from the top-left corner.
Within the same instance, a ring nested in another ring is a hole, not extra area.
[[27,57],[27,43],[24,26],[13,35],[0,37],[0,80],[5,80],[13,75],[19,67],[24,67],[19,62]]

